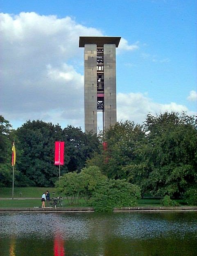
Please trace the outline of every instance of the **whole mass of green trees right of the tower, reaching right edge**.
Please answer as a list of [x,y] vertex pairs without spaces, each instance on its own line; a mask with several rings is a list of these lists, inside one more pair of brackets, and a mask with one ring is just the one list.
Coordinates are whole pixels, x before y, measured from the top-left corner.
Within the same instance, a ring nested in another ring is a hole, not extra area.
[[[118,122],[106,131],[107,149],[87,161],[109,178],[126,179],[142,194],[197,194],[197,123],[178,113],[147,115],[143,125]],[[100,160],[102,159],[102,161]]]

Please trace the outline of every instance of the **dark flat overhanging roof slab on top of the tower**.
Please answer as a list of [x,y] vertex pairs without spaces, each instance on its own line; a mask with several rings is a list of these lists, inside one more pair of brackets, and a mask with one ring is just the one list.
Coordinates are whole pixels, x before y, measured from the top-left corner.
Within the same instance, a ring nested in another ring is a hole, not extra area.
[[79,47],[85,44],[96,44],[97,47],[103,47],[104,44],[115,44],[118,47],[121,37],[79,37]]

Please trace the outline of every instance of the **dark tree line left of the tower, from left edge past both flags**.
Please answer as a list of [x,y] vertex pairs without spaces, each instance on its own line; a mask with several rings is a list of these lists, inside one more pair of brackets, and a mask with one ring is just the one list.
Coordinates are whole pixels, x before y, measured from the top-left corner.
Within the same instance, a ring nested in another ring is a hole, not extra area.
[[[3,117],[2,117],[3,118]],[[60,125],[40,120],[27,121],[17,130],[12,130],[9,121],[1,122],[0,159],[1,185],[11,186],[11,145],[15,139],[16,166],[15,185],[52,187],[59,177],[59,166],[54,165],[54,143],[64,141],[64,165],[61,174],[80,171],[87,158],[98,152],[99,140],[95,134],[85,134],[81,128]],[[5,152],[3,152],[3,150]],[[9,175],[8,175],[9,174]]]

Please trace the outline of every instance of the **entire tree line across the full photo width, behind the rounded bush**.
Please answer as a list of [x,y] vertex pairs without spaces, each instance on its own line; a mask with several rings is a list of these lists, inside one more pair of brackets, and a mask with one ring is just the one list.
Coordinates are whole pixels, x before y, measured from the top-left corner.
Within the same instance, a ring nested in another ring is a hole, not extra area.
[[[16,142],[16,185],[53,186],[54,142],[65,142],[61,174],[97,166],[110,180],[138,185],[142,194],[179,197],[197,189],[197,123],[185,113],[148,114],[143,125],[117,122],[104,136],[40,120],[17,130],[0,116],[0,185],[11,186],[11,145]],[[107,147],[102,147],[102,142]]]

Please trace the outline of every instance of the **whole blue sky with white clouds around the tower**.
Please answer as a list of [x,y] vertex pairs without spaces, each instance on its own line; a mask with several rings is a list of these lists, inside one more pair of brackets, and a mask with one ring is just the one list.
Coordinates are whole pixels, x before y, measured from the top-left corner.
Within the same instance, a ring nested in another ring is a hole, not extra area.
[[[117,118],[197,106],[195,0],[2,1],[0,114],[84,128],[79,36],[120,36]],[[13,102],[15,107],[13,108]]]

